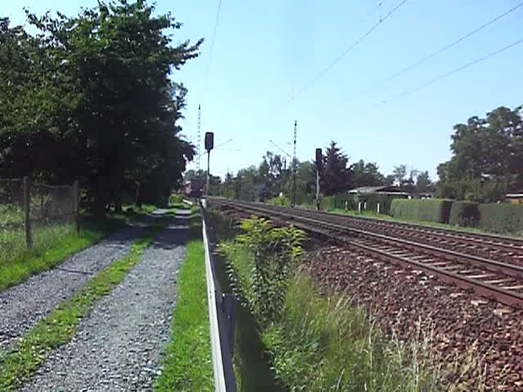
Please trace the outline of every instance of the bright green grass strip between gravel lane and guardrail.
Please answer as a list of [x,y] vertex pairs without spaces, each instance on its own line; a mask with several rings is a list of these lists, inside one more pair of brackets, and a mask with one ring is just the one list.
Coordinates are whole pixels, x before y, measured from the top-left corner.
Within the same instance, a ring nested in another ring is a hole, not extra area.
[[178,275],[171,338],[155,391],[214,390],[201,226],[191,226],[189,234],[195,238],[187,244],[186,258]]

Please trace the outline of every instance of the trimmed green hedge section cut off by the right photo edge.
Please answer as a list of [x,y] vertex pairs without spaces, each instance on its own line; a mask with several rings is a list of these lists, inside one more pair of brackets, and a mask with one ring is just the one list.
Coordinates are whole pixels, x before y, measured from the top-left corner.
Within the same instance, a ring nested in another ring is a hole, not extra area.
[[493,233],[523,233],[523,205],[488,203],[479,205],[480,227]]

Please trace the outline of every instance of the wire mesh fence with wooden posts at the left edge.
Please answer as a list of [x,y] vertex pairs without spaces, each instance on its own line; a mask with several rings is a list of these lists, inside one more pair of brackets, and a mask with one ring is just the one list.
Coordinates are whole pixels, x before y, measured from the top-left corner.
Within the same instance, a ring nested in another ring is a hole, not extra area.
[[78,182],[50,186],[0,179],[0,263],[78,231]]

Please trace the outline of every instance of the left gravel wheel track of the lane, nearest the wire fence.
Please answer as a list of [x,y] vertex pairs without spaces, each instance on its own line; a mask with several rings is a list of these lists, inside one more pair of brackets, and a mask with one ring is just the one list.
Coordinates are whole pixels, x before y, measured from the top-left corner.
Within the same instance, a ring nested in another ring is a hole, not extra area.
[[0,293],[0,352],[98,271],[126,255],[132,241],[143,233],[143,228],[127,227],[75,253],[54,269],[33,275]]

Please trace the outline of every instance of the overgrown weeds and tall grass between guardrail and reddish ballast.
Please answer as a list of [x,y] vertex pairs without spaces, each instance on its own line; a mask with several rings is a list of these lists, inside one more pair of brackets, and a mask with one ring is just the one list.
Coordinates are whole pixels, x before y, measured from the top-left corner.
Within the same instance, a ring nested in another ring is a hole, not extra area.
[[256,217],[241,227],[220,252],[287,390],[442,390],[427,347],[385,339],[362,308],[344,297],[320,296],[308,274],[297,272],[300,230],[272,228]]

